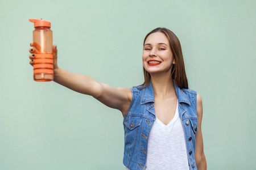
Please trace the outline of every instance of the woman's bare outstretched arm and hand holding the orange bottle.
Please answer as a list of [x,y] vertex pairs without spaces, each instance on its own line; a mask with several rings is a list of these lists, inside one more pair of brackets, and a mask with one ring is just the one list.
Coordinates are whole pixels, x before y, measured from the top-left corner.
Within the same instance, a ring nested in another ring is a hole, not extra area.
[[[32,46],[33,44],[31,44]],[[53,81],[81,94],[93,96],[106,106],[118,109],[123,116],[127,112],[132,93],[129,88],[111,87],[105,83],[99,83],[90,76],[71,73],[57,66],[57,48],[53,45]],[[30,64],[33,65],[36,53],[34,47],[30,48]]]

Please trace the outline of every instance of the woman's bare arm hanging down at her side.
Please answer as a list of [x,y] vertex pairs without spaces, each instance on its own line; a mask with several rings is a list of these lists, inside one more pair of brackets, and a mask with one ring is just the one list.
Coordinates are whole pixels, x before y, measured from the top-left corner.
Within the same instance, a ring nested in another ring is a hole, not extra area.
[[198,118],[198,131],[196,133],[196,153],[195,153],[195,160],[196,160],[196,167],[197,169],[205,170],[207,169],[207,162],[204,155],[204,145],[203,145],[203,135],[201,131],[201,122],[203,117],[203,104],[202,98],[197,93],[197,118]]

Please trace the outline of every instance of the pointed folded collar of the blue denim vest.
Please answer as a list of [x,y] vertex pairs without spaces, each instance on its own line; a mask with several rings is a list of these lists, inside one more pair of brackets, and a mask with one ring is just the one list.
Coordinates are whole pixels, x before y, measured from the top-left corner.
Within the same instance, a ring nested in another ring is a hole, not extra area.
[[[180,88],[175,83],[174,79],[172,79],[172,82],[174,83],[174,88],[175,88],[175,92],[176,92],[179,103],[187,103],[191,105],[187,95],[185,95],[183,90],[180,90]],[[153,103],[155,102],[154,90],[151,83],[151,79],[149,80],[148,86],[143,89],[142,96],[141,96],[141,104],[145,104],[148,102],[153,102]]]

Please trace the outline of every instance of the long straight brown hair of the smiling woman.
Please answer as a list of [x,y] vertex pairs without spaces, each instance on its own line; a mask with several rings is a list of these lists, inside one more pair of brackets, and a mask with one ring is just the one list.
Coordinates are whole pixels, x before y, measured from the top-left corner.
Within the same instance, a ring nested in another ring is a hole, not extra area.
[[[183,54],[181,51],[180,41],[177,38],[177,36],[172,31],[170,31],[170,29],[160,28],[160,27],[153,29],[150,33],[148,33],[146,35],[144,42],[143,42],[143,46],[145,44],[147,37],[149,35],[151,35],[151,33],[155,33],[155,32],[164,33],[169,41],[171,52],[172,52],[172,54],[174,56],[174,60],[175,60],[175,64],[171,65],[172,79],[175,80],[175,83],[177,84],[177,86],[179,88],[188,88],[188,79],[187,79],[187,75],[185,72],[185,65],[184,65],[184,60],[183,60]],[[143,73],[144,73],[144,83],[141,84],[140,86],[143,86],[142,88],[145,88],[148,86],[151,76],[144,69],[144,67],[143,67]]]

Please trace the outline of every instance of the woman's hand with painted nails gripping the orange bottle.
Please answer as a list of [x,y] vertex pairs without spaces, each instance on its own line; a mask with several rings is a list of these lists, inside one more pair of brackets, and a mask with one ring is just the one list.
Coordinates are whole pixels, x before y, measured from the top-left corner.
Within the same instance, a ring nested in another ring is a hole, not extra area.
[[[36,45],[32,42],[30,44],[30,46],[32,46],[30,48],[30,65],[34,65],[34,58],[36,57],[36,54],[38,53],[38,50],[36,48]],[[53,71],[55,71],[56,69],[58,69],[58,65],[57,65],[57,45],[53,45],[52,46],[52,53],[53,53]]]

